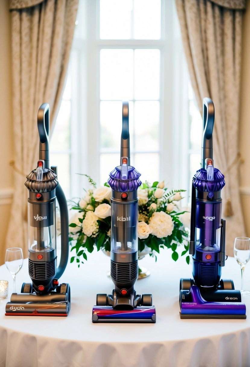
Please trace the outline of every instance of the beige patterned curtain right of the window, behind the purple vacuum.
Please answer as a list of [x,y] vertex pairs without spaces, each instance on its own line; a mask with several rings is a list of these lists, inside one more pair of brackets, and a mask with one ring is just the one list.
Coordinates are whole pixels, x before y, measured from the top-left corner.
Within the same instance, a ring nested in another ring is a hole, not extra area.
[[176,0],[192,87],[202,115],[202,100],[215,108],[214,164],[225,175],[223,217],[227,254],[245,236],[239,195],[239,90],[242,17],[245,0]]

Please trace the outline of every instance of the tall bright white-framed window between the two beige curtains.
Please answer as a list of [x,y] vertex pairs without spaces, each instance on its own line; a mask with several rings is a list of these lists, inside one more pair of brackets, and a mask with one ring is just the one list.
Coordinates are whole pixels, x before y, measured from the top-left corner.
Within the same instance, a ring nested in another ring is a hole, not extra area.
[[80,0],[51,139],[68,198],[88,187],[77,173],[102,185],[119,165],[122,100],[129,100],[131,164],[142,180],[188,189],[200,141],[174,1]]

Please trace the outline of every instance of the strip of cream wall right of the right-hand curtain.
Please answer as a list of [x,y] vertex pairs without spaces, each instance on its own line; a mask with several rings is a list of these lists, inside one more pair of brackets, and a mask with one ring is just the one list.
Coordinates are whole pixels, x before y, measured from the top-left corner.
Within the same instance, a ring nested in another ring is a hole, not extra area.
[[243,20],[241,84],[239,152],[243,163],[240,164],[240,193],[246,235],[250,237],[250,0],[247,0]]

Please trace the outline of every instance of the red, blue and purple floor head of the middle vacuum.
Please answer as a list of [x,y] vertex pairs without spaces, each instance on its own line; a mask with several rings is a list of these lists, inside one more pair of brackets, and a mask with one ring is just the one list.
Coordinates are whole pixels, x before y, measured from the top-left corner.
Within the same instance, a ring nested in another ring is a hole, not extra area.
[[138,322],[155,323],[154,306],[137,306],[134,309],[114,309],[112,306],[94,306],[92,322]]

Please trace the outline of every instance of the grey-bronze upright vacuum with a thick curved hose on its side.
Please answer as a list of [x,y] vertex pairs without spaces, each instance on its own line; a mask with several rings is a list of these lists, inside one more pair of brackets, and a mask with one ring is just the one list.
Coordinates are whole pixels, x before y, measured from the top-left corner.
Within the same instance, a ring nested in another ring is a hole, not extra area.
[[[57,181],[56,167],[49,168],[49,105],[38,110],[40,137],[37,168],[27,176],[29,190],[28,236],[29,276],[32,283],[23,283],[21,293],[13,293],[5,315],[67,316],[70,310],[70,287],[59,284],[69,256],[69,219],[67,202]],[[56,267],[56,199],[61,219],[61,258]]]

